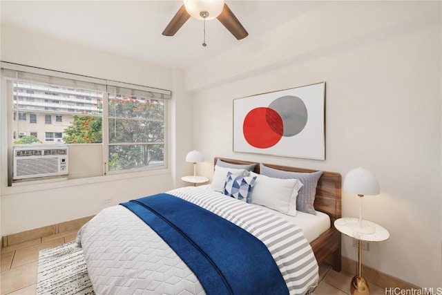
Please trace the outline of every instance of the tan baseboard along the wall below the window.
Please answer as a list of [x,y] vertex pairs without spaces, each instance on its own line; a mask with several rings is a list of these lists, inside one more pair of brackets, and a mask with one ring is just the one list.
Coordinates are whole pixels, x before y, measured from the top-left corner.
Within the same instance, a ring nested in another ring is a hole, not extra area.
[[65,231],[79,229],[91,218],[93,218],[93,216],[87,216],[84,218],[57,223],[55,225],[48,225],[47,227],[39,227],[38,229],[30,229],[29,231],[22,231],[21,233],[3,236],[1,237],[1,247],[9,247],[21,242],[28,242],[30,240],[52,236]]

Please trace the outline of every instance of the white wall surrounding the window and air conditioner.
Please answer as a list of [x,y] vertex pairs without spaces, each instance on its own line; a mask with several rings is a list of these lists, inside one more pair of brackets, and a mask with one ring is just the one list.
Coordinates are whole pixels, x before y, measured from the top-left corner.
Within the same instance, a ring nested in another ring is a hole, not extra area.
[[[106,53],[66,40],[52,39],[19,28],[1,27],[1,60],[27,66],[87,75],[119,82],[140,84],[173,91],[169,103],[169,169],[150,173],[99,176],[63,182],[6,187],[6,166],[1,166],[1,235],[52,225],[97,213],[100,209],[126,200],[148,196],[182,185],[176,175],[190,173],[184,157],[192,148],[192,137],[184,136],[191,129],[187,112],[191,104],[186,102],[184,74],[180,70],[164,68],[145,61]],[[2,97],[3,99],[3,97]],[[179,108],[177,110],[177,108]],[[179,111],[179,115],[175,115]],[[1,164],[6,165],[6,112],[1,109]],[[180,135],[177,132],[181,133]],[[175,165],[175,155],[179,155]],[[84,155],[82,161],[94,155]],[[101,156],[99,156],[101,157]],[[86,158],[86,159],[85,159]],[[93,162],[95,159],[90,159]],[[74,165],[75,166],[75,165]],[[178,174],[177,172],[178,171]],[[184,172],[186,171],[186,172]],[[103,204],[103,199],[111,199]]]

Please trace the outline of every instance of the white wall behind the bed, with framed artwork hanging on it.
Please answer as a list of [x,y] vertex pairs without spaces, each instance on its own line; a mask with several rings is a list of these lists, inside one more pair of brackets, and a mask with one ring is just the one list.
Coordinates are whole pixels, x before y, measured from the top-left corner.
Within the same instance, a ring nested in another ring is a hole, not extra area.
[[[186,72],[193,90],[194,143],[223,156],[337,171],[363,166],[381,184],[364,217],[391,237],[363,263],[421,287],[441,278],[441,2],[333,1],[246,41],[207,70]],[[261,46],[258,46],[260,44]],[[232,100],[326,82],[326,160],[233,153]],[[358,198],[343,191],[343,216]],[[351,239],[343,256],[357,260]]]

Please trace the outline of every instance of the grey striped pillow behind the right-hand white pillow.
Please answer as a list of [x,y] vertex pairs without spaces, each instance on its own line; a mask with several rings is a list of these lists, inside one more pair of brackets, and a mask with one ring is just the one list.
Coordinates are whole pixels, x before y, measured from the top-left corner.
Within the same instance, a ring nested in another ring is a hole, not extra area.
[[297,179],[304,184],[298,191],[298,198],[296,198],[296,210],[316,215],[314,208],[316,187],[318,186],[318,180],[323,171],[313,173],[303,172],[291,172],[282,171],[265,166],[260,163],[260,174],[266,175],[272,178],[282,179]]

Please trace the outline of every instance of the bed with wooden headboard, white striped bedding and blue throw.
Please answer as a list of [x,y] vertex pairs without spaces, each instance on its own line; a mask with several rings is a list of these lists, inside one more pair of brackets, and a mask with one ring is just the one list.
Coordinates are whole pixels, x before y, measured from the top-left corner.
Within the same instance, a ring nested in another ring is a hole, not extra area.
[[[251,174],[262,165],[215,158],[215,167],[218,161],[254,164]],[[96,294],[305,294],[318,282],[318,263],[332,257],[340,271],[340,234],[333,227],[340,218],[340,183],[339,173],[320,175],[314,209],[328,225],[308,241],[291,217],[209,185],[106,208],[80,229],[77,244]]]

